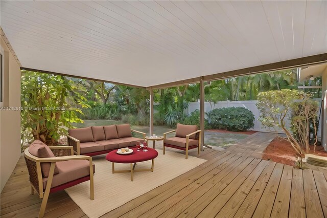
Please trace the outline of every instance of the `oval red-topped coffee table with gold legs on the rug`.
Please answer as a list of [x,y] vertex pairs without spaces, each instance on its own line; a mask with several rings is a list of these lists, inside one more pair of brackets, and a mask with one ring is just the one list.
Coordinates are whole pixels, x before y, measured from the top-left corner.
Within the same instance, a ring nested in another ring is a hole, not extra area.
[[[106,160],[112,162],[112,173],[115,172],[131,172],[131,181],[133,181],[133,173],[141,171],[151,171],[153,172],[154,168],[154,159],[158,157],[158,152],[155,149],[147,148],[148,151],[142,151],[140,149],[137,151],[137,148],[130,148],[133,152],[129,155],[119,155],[116,153],[117,150],[109,152],[106,156]],[[152,160],[150,169],[134,169],[136,163]],[[114,163],[129,163],[131,165],[130,170],[114,170]]]

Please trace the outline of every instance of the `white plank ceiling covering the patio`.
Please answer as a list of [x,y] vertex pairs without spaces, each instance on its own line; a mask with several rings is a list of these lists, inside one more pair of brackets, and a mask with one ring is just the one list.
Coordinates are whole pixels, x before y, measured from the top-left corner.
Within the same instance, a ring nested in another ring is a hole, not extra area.
[[22,67],[139,86],[327,52],[326,1],[1,1]]

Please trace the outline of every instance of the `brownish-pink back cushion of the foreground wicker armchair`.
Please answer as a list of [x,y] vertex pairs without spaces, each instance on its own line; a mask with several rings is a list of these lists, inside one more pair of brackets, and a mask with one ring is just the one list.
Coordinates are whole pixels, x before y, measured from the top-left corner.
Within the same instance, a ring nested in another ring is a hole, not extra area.
[[[55,155],[51,149],[41,142],[40,140],[35,140],[29,147],[29,152],[38,158],[54,158]],[[49,177],[51,163],[41,163],[42,177]],[[57,164],[55,165],[54,175],[59,173]]]

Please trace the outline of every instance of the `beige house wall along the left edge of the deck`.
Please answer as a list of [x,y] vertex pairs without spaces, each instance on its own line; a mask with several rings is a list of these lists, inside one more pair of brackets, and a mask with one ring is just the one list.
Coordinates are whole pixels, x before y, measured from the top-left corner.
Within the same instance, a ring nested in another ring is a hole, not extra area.
[[[20,107],[20,68],[1,36],[4,56],[3,107]],[[0,110],[0,185],[3,190],[20,157],[20,111]]]

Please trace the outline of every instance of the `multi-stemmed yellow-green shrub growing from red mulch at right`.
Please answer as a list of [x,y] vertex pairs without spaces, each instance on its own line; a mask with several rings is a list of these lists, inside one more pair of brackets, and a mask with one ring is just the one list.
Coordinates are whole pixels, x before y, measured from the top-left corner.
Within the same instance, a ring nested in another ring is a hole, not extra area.
[[[318,104],[310,97],[310,94],[299,90],[276,90],[259,93],[256,104],[261,112],[259,120],[262,124],[274,128],[276,133],[282,129],[300,157],[310,150],[310,122],[315,123],[317,116]],[[294,134],[287,127],[287,120],[291,121],[290,129]],[[316,131],[314,125],[315,135]]]

